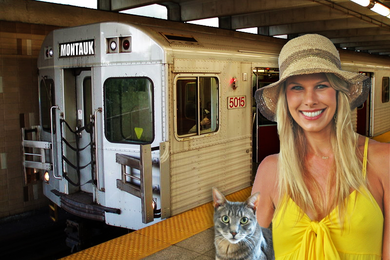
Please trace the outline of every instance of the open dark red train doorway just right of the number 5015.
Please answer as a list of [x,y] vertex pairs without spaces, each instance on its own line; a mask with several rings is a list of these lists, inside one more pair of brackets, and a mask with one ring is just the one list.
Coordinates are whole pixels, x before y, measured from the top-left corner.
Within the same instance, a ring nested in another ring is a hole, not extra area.
[[[254,91],[279,80],[279,69],[277,68],[254,68],[253,73],[254,79],[256,80],[254,82]],[[276,122],[263,117],[257,108],[256,111],[254,120],[254,129],[256,129],[256,132],[254,133],[255,137],[253,140],[256,141],[255,160],[259,164],[267,156],[279,153],[280,143],[277,135]]]

